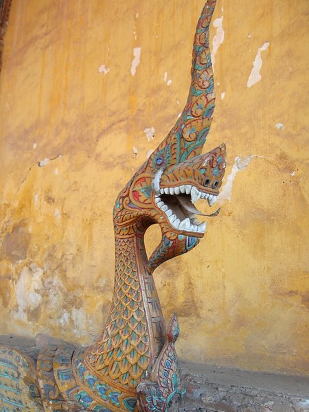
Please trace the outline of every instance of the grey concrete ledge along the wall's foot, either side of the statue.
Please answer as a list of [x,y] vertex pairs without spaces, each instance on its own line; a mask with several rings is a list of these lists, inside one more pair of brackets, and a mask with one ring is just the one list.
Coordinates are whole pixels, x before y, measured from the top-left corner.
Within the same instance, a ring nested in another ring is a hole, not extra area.
[[[0,336],[0,344],[19,347],[33,358],[47,341],[57,343],[41,334],[36,339]],[[181,367],[190,376],[190,384],[180,412],[309,412],[309,376],[188,362],[181,362]]]

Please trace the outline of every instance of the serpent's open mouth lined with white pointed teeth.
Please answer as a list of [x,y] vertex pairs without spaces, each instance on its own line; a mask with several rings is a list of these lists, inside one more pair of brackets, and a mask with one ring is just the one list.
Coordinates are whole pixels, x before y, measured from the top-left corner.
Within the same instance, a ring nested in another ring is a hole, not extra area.
[[214,205],[217,196],[200,192],[192,185],[165,187],[155,194],[157,207],[168,217],[172,227],[177,230],[205,233],[206,222],[198,222],[196,215],[207,216],[198,211],[193,203],[205,199],[209,206]]

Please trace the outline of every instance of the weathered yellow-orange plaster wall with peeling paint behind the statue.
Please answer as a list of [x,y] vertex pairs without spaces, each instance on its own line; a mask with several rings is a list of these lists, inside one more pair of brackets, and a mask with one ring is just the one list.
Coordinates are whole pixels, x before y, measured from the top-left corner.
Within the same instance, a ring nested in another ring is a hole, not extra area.
[[[100,332],[113,201],[185,104],[203,3],[12,1],[0,76],[1,333],[85,344]],[[218,0],[205,150],[227,142],[222,211],[194,251],[155,273],[192,361],[308,372],[308,5]],[[158,240],[151,229],[148,249]]]

